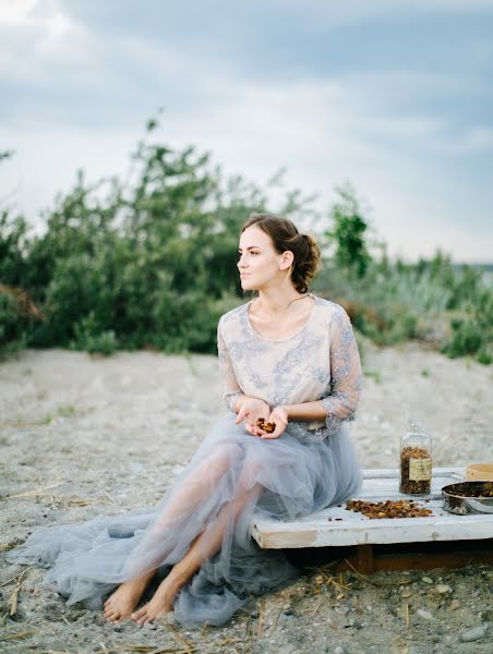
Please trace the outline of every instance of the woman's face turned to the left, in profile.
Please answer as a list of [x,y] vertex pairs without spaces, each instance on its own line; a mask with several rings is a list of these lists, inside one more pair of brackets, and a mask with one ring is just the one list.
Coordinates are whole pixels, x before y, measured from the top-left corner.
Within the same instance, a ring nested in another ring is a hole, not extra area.
[[253,291],[280,282],[292,262],[292,253],[279,254],[270,237],[252,225],[240,237],[238,270],[241,288]]

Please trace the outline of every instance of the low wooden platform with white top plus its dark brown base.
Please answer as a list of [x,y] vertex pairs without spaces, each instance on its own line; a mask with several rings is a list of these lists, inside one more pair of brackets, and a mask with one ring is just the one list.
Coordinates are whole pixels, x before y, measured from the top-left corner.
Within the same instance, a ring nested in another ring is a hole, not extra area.
[[[377,565],[375,555],[378,547],[381,550],[386,548],[387,559],[390,553],[394,554],[397,568],[436,567],[436,564],[432,565],[433,560],[438,560],[441,553],[445,555],[447,550],[449,565],[453,566],[469,560],[493,562],[493,513],[456,516],[443,509],[442,487],[462,480],[462,468],[433,469],[431,494],[424,498],[429,501],[414,498],[433,511],[426,518],[370,520],[361,513],[347,510],[342,504],[291,522],[254,516],[251,533],[263,548],[329,547],[334,555],[339,553],[339,558],[341,552],[347,552],[342,559],[353,561],[349,567],[354,566],[366,572],[393,569],[393,564],[388,561]],[[362,491],[353,499],[409,499],[410,496],[399,493],[398,486],[397,469],[365,470]],[[446,545],[450,542],[455,542],[452,548]],[[416,548],[420,543],[423,550],[428,549],[428,564],[425,558],[419,556],[418,549],[412,552],[412,547]],[[434,554],[433,547],[430,547],[433,543],[442,543],[442,546],[435,546]],[[476,554],[474,544],[480,546],[479,550],[476,548]],[[409,549],[411,554],[405,555]],[[399,553],[400,562],[397,561]],[[411,565],[412,560],[416,565]],[[443,565],[448,564],[445,561]]]

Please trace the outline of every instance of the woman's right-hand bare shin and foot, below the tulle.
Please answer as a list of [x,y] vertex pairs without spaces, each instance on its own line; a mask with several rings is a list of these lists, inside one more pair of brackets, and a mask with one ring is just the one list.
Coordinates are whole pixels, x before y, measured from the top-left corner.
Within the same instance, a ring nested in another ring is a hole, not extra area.
[[[249,469],[250,472],[251,470]],[[207,528],[199,534],[187,555],[173,566],[166,579],[159,584],[151,602],[140,610],[132,613],[132,620],[135,620],[139,625],[146,625],[160,615],[172,610],[172,601],[182,586],[190,581],[207,558],[213,557],[220,549],[228,523],[236,522],[246,502],[256,501],[261,491],[261,484],[255,483],[251,488],[248,488],[240,480],[236,498],[223,507],[212,528]]]

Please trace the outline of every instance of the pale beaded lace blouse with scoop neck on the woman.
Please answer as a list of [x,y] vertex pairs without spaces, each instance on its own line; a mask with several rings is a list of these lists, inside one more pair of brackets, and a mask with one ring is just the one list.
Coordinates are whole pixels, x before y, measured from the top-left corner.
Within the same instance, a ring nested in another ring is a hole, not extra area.
[[325,420],[289,421],[300,440],[320,441],[354,419],[361,393],[361,363],[351,322],[335,302],[310,293],[314,305],[305,325],[288,339],[261,336],[246,302],[224,314],[217,326],[223,396],[233,412],[241,395],[270,409],[322,400]]

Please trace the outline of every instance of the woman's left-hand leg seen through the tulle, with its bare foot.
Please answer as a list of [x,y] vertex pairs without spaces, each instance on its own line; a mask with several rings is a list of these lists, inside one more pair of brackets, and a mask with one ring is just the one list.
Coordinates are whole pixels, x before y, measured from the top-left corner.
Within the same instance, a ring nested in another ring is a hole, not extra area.
[[[219,444],[218,444],[219,445]],[[223,444],[218,451],[205,459],[181,483],[171,495],[164,513],[152,528],[155,540],[159,540],[163,530],[177,517],[193,510],[204,500],[204,494],[213,488],[219,479],[231,468],[235,457],[239,453],[238,446]],[[196,538],[195,538],[196,541]],[[159,561],[156,560],[156,568]],[[156,568],[135,579],[123,582],[105,602],[105,617],[110,621],[128,618],[136,608],[147,585],[153,579]],[[181,588],[181,586],[180,586]]]

